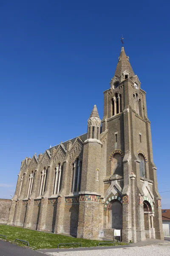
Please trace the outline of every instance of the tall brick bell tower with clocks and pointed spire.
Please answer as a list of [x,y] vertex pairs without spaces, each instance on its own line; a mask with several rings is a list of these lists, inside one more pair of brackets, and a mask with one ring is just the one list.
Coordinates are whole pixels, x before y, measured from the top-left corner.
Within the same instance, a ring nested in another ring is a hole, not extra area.
[[113,183],[119,184],[123,241],[164,237],[145,95],[122,47],[110,88],[104,91],[102,133],[108,138],[104,193],[108,198]]

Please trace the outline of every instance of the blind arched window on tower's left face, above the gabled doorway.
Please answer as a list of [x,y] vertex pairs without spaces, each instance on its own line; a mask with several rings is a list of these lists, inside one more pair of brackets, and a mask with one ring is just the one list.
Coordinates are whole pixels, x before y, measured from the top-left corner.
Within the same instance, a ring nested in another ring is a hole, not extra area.
[[123,164],[122,157],[119,153],[114,154],[111,160],[111,173],[112,175],[120,175],[123,176]]

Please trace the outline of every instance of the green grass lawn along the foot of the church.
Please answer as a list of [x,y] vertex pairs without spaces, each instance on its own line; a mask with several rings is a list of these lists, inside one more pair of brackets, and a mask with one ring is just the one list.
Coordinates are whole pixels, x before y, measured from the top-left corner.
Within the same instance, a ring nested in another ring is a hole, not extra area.
[[[82,247],[94,247],[97,246],[102,241],[98,240],[89,240],[89,239],[81,239],[81,238],[73,238],[70,236],[63,236],[45,232],[38,232],[35,230],[28,230],[22,227],[11,227],[6,225],[0,225],[0,234],[5,235],[7,237],[7,241],[14,241],[14,239],[22,239],[29,242],[29,246],[34,249],[51,249],[57,248],[57,244],[59,243],[81,243]],[[2,238],[2,236],[0,237]],[[20,246],[24,246],[27,244],[23,244],[18,242]],[[123,245],[125,243],[117,243],[116,245]],[[107,244],[106,244],[107,245]],[[60,246],[59,248],[68,248],[70,246]],[[74,245],[73,247],[78,247]]]

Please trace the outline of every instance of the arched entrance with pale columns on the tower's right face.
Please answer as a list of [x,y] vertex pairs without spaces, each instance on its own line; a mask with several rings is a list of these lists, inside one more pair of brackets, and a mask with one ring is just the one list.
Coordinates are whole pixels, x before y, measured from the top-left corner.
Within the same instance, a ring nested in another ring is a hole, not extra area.
[[153,227],[153,210],[148,201],[144,201],[144,230],[146,238],[155,239],[155,228]]

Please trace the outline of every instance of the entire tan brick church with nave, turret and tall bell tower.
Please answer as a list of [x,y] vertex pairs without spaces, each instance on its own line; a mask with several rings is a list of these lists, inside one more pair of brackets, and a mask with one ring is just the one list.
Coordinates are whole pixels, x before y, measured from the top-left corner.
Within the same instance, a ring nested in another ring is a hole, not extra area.
[[[98,239],[163,239],[145,92],[121,49],[102,121],[94,105],[88,132],[26,157],[9,225]],[[101,127],[102,124],[102,127]]]

